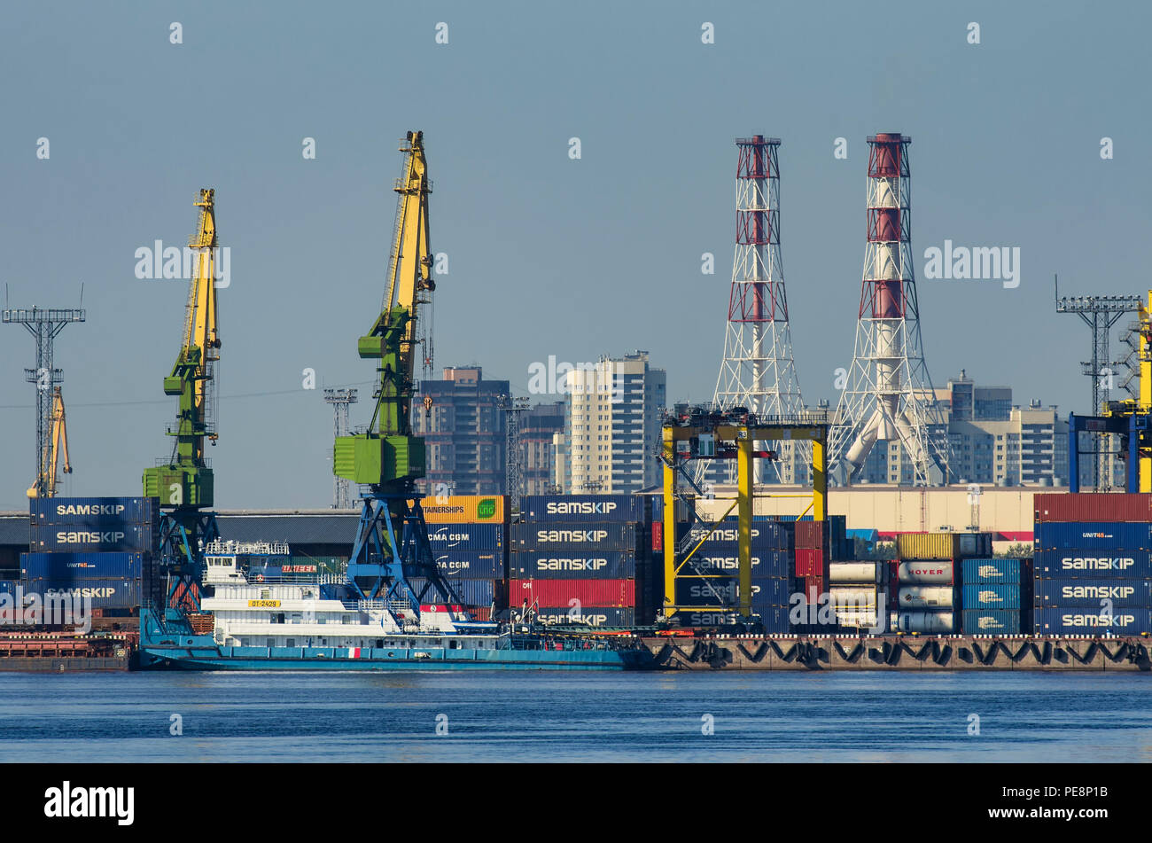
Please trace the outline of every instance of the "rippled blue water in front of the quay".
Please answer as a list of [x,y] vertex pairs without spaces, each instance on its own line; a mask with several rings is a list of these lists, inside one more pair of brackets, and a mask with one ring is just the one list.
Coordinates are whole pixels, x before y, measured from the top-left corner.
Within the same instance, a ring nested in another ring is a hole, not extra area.
[[[1152,677],[0,674],[0,761],[1150,761]],[[183,736],[169,735],[182,715]],[[714,734],[702,734],[702,716]],[[980,717],[970,736],[969,715]],[[437,717],[448,734],[438,736]],[[442,717],[441,717],[442,721]]]

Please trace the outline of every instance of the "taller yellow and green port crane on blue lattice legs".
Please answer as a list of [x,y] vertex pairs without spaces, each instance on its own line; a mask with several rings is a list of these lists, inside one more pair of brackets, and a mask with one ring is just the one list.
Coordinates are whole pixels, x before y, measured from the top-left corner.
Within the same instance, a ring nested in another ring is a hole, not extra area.
[[[400,151],[404,168],[393,188],[399,200],[384,302],[357,343],[362,358],[379,360],[376,407],[365,432],[336,436],[333,448],[336,476],[369,487],[348,578],[361,598],[386,600],[389,608],[403,605],[409,617],[418,620],[424,610],[453,607],[455,620],[468,620],[437,571],[416,492],[416,480],[424,477],[424,439],[412,435],[410,423],[415,363],[420,356],[416,348],[419,306],[429,303],[435,289],[429,245],[432,182],[423,132],[408,132]],[[424,582],[412,587],[410,577]]]

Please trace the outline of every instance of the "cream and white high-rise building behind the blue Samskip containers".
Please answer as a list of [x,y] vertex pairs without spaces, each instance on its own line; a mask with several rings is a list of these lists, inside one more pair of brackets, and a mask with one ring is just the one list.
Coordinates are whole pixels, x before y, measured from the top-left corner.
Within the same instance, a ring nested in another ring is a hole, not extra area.
[[564,427],[553,436],[564,493],[623,494],[658,483],[667,375],[647,351],[600,357],[564,375]]

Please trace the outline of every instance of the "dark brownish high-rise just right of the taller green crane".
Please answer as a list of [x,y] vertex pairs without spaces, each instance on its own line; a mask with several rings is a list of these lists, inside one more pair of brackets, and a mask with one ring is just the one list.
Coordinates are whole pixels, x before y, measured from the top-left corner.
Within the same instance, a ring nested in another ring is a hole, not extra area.
[[484,380],[480,366],[449,366],[444,380],[420,381],[412,430],[424,438],[425,494],[487,495],[507,492],[508,381]]

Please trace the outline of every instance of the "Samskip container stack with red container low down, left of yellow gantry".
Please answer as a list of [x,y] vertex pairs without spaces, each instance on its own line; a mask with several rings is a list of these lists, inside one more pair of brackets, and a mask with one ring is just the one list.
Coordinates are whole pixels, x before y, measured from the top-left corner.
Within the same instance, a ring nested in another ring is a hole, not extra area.
[[645,502],[639,495],[529,495],[511,525],[508,606],[545,623],[635,626],[645,605]]

